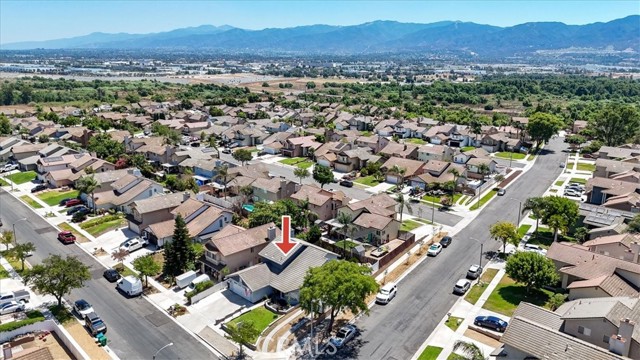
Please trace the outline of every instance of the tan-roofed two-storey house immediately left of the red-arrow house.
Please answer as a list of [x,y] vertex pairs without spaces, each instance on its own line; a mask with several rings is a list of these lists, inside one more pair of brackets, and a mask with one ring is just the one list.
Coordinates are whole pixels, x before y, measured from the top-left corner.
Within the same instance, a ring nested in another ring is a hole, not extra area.
[[229,225],[204,244],[205,253],[200,259],[201,271],[221,280],[225,272],[233,273],[259,264],[260,251],[280,234],[280,229],[274,223],[251,229]]

